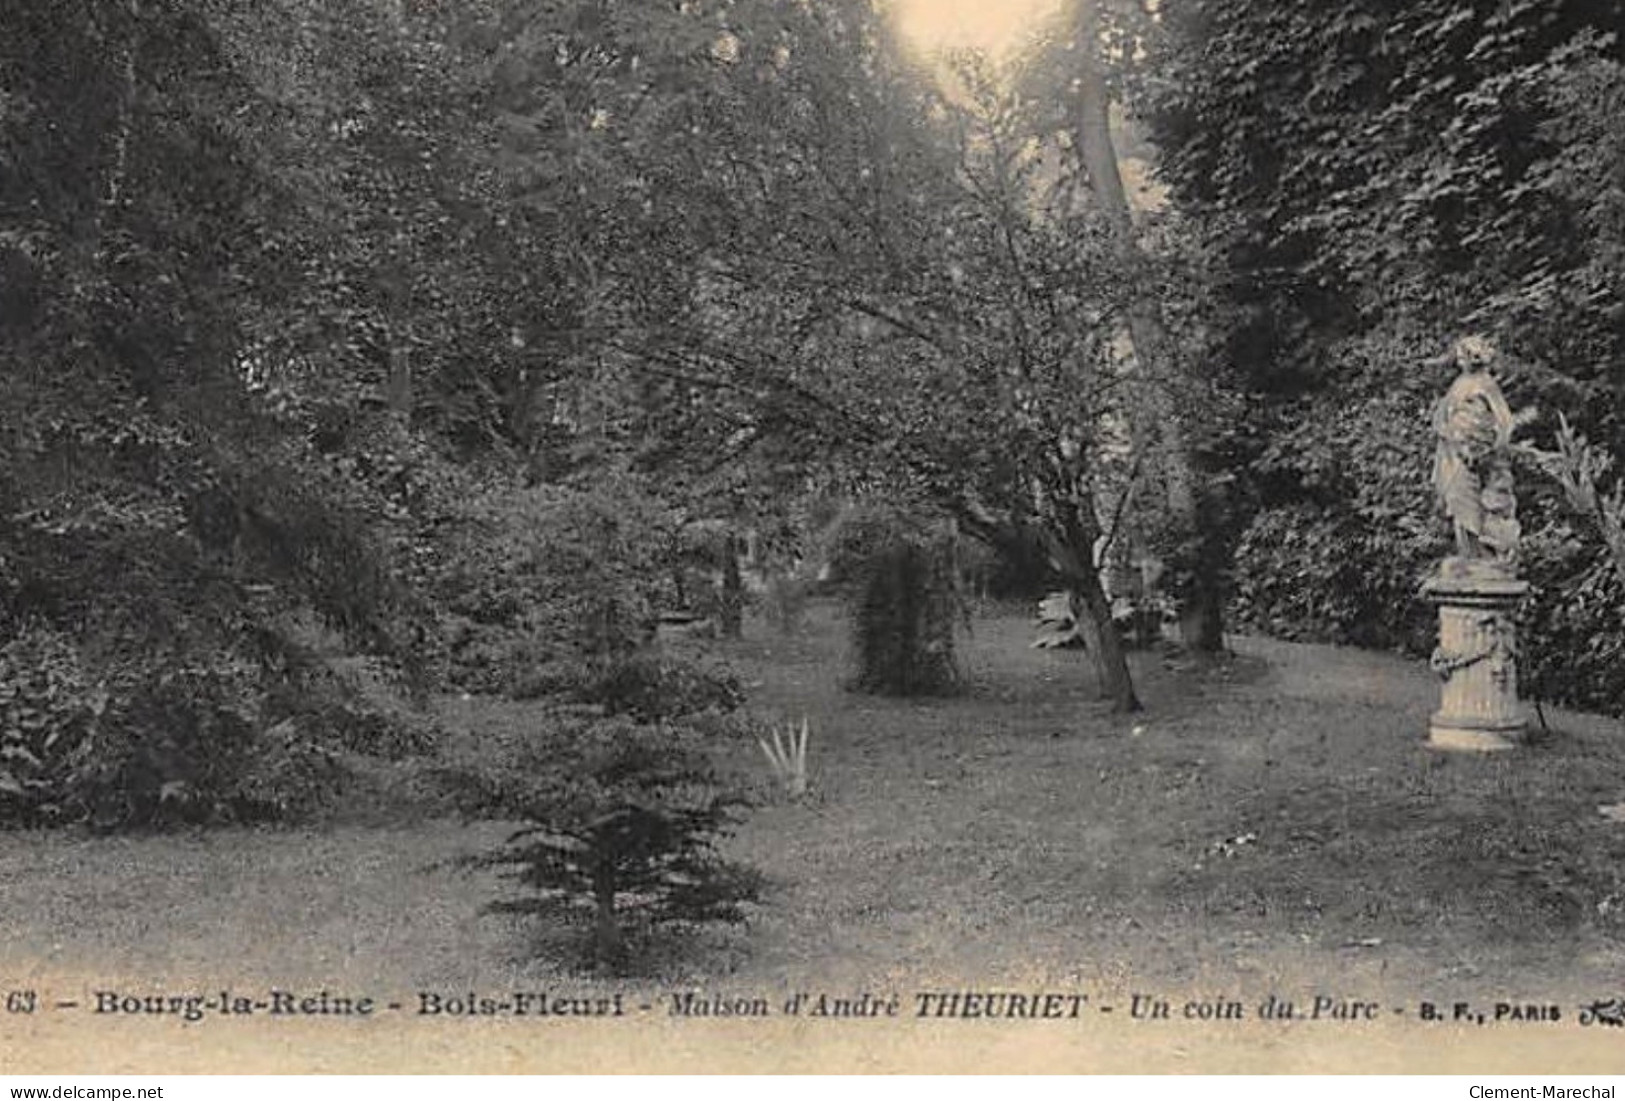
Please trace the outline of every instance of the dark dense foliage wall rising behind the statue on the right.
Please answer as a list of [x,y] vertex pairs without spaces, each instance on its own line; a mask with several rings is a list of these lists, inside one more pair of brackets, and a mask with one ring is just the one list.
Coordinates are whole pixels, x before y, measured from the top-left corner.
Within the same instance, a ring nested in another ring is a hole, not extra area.
[[[1625,450],[1622,16],[1581,2],[1167,5],[1142,88],[1173,195],[1228,273],[1225,339],[1256,414],[1238,611],[1300,638],[1425,646],[1415,583],[1433,359],[1485,331],[1550,450],[1566,416]],[[1622,589],[1594,516],[1521,473],[1537,581],[1524,664],[1554,700],[1625,708]],[[1584,638],[1586,641],[1580,641]]]

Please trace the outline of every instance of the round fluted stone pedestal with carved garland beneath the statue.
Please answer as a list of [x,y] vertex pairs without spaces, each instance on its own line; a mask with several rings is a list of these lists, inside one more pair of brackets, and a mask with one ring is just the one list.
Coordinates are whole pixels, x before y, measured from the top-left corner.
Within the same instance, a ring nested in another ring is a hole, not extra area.
[[1524,732],[1513,617],[1528,593],[1528,581],[1508,576],[1441,573],[1422,586],[1422,594],[1438,606],[1432,664],[1443,692],[1428,726],[1433,749],[1513,749]]

